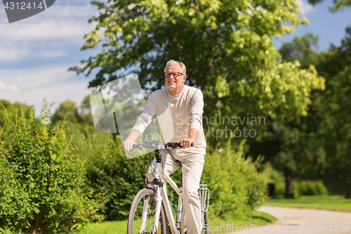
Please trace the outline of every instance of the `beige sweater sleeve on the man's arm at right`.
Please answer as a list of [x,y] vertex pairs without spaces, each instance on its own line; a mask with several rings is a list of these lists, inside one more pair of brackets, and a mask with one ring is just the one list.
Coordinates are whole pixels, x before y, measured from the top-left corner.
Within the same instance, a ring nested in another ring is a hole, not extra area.
[[204,96],[200,89],[194,93],[191,100],[190,108],[190,129],[196,129],[199,132],[202,113],[204,113]]

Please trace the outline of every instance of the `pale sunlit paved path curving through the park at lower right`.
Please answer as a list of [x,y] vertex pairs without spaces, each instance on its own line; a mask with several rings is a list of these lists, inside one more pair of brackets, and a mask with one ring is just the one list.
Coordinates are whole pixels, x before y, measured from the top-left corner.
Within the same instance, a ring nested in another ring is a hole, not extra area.
[[[324,233],[349,233],[351,234],[351,213],[332,212],[317,209],[300,209],[286,207],[260,207],[260,212],[268,213],[277,218],[277,221],[267,226],[257,228],[252,224],[251,230],[241,228],[239,233],[264,233],[264,234],[324,234]],[[338,230],[336,230],[338,225]],[[341,230],[343,225],[343,230]],[[347,227],[347,225],[349,225]],[[345,230],[350,228],[350,230]],[[237,228],[239,230],[239,228]],[[234,232],[238,233],[238,232]],[[234,234],[233,233],[233,234]],[[230,233],[227,233],[230,234]]]

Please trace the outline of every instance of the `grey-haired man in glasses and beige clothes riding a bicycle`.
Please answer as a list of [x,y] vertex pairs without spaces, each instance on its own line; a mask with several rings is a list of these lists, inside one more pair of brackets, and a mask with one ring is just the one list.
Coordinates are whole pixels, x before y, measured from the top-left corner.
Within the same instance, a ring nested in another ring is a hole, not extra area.
[[[202,128],[204,98],[200,89],[184,84],[187,77],[184,63],[169,60],[164,72],[167,88],[151,94],[123,146],[124,150],[131,150],[135,140],[143,134],[154,115],[157,115],[162,140],[180,142],[183,145],[180,149],[160,150],[162,169],[164,174],[170,175],[178,169],[178,161],[181,163],[187,233],[198,234],[201,233],[202,227],[197,190],[206,155],[206,141]],[[169,136],[170,133],[173,133],[172,136]],[[190,146],[191,143],[194,143],[194,147]],[[152,165],[155,164],[156,160],[152,162]],[[152,172],[150,168],[147,171],[149,181],[154,178]]]

